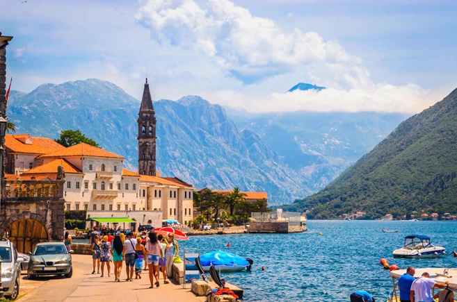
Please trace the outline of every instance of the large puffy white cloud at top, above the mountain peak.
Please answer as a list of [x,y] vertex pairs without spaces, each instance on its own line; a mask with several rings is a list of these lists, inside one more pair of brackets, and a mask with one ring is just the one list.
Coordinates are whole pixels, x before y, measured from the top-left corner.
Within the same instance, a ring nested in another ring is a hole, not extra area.
[[367,83],[360,58],[339,42],[295,28],[286,33],[273,20],[253,16],[229,0],[209,0],[202,8],[194,0],[149,0],[136,20],[150,29],[157,42],[203,53],[243,83],[255,83],[311,63],[330,70],[342,85]]

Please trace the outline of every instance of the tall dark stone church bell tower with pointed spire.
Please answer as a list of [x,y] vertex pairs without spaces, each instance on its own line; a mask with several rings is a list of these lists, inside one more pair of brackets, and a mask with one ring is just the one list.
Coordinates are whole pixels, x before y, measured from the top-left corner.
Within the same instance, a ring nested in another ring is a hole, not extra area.
[[138,173],[156,176],[156,117],[149,84],[145,83],[138,113]]

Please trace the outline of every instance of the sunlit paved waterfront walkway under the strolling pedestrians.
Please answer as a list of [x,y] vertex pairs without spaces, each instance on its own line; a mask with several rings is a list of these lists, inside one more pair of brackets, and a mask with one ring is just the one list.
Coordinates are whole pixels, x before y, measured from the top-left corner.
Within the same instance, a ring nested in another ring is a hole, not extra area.
[[[196,297],[190,291],[190,285],[184,290],[182,285],[175,285],[172,282],[163,284],[159,288],[148,288],[150,286],[148,272],[143,271],[143,278],[133,282],[114,282],[114,276],[109,278],[105,272],[103,278],[92,272],[92,258],[90,255],[73,255],[73,276],[70,279],[64,277],[40,278],[39,280],[28,280],[23,276],[19,302],[129,302],[129,301],[205,301],[202,297]],[[111,264],[111,266],[113,266]],[[122,267],[122,278],[126,278],[125,266]],[[106,270],[106,268],[105,268]],[[135,278],[135,277],[134,277]],[[28,293],[26,293],[28,292]],[[25,294],[25,296],[23,296]]]

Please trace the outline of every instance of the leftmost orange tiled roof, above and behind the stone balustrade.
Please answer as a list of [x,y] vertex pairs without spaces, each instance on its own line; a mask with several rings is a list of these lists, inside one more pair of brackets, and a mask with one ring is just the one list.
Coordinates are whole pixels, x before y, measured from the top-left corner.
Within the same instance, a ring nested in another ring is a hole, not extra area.
[[5,135],[5,144],[8,149],[17,153],[47,154],[65,149],[65,146],[54,142],[47,137],[31,137],[32,144],[26,144],[29,134]]

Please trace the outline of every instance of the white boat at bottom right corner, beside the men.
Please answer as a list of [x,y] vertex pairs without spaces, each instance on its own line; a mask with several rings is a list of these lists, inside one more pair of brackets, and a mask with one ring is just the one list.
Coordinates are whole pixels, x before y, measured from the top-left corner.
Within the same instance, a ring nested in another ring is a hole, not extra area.
[[[430,278],[435,280],[435,282],[444,283],[449,281],[448,288],[449,290],[457,291],[457,268],[445,269],[445,268],[435,268],[435,267],[426,267],[426,268],[416,268],[414,278],[420,278],[424,272],[430,274]],[[406,274],[406,269],[396,269],[390,272],[392,277],[392,284],[394,285],[394,290],[391,292],[387,302],[400,302],[400,290],[398,287],[398,280],[403,275]],[[433,290],[433,294],[436,294],[437,291]],[[455,296],[453,301],[455,300]],[[436,300],[438,301],[438,300]]]

